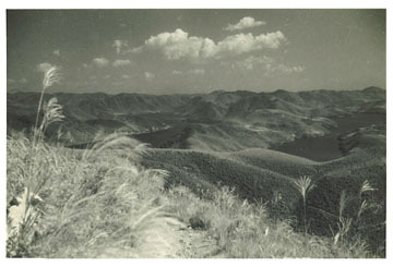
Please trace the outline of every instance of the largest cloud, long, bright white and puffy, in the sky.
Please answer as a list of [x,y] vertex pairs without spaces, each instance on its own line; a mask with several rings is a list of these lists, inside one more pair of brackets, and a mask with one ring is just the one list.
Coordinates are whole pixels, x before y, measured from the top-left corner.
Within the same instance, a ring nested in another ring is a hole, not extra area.
[[252,34],[230,35],[215,43],[210,38],[189,36],[187,32],[178,28],[174,33],[152,36],[143,46],[134,48],[132,51],[157,50],[167,60],[219,59],[225,56],[241,54],[254,50],[277,49],[285,40],[284,34],[277,31],[258,36]]

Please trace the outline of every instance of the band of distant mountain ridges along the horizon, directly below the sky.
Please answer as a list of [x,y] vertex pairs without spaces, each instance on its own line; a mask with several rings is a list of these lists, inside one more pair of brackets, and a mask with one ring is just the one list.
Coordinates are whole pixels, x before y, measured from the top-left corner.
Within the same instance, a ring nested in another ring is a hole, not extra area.
[[[100,131],[123,131],[157,147],[239,150],[269,147],[301,136],[319,136],[335,126],[331,118],[354,112],[385,112],[385,90],[291,93],[213,92],[195,95],[47,94],[66,116],[64,142],[91,142]],[[11,93],[8,130],[33,125],[38,93]],[[55,136],[58,126],[48,131]],[[158,139],[157,139],[158,138]]]

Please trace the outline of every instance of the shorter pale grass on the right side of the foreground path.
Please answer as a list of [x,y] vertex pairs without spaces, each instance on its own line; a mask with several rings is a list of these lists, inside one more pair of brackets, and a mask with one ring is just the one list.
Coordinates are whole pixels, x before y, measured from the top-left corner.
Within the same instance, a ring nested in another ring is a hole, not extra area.
[[[297,233],[288,220],[269,218],[266,204],[241,201],[228,187],[209,192],[209,198],[196,197],[180,186],[169,192],[174,213],[184,222],[200,218],[206,229],[199,230],[213,244],[206,254],[192,257],[283,258],[283,257],[370,257],[362,243],[340,242],[329,238]],[[213,195],[212,199],[211,195]],[[206,238],[207,239],[207,238]]]

